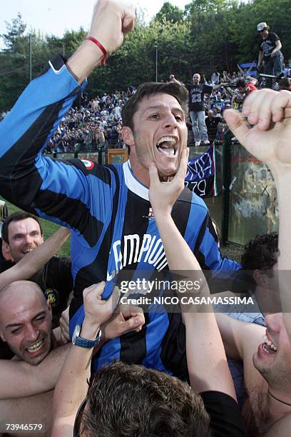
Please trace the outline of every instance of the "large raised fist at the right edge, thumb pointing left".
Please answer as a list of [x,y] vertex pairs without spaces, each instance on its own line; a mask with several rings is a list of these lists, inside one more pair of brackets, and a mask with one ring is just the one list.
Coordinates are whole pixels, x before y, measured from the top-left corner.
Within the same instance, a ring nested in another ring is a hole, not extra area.
[[280,174],[291,171],[290,91],[252,91],[245,100],[242,114],[228,109],[224,116],[240,144],[265,162],[272,173],[278,169]]

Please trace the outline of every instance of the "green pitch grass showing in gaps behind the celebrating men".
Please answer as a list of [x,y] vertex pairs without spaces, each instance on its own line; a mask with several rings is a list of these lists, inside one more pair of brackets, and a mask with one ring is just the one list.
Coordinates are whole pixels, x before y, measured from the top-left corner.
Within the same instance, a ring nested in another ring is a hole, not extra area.
[[[0,199],[5,200],[3,197],[0,196]],[[6,201],[6,200],[5,200]],[[14,211],[19,211],[19,208],[13,204],[10,204],[10,202],[6,201],[8,212],[9,214],[12,214]],[[44,239],[48,238],[53,234],[53,232],[56,232],[59,228],[59,226],[56,223],[53,223],[52,221],[44,220],[44,218],[40,218],[41,225],[44,231]],[[221,252],[224,256],[228,256],[228,258],[234,259],[235,261],[240,262],[240,257],[242,256],[243,248],[239,246],[222,246]],[[71,255],[71,246],[70,246],[70,239],[63,244],[63,246],[58,250],[56,253],[57,256],[70,256]]]

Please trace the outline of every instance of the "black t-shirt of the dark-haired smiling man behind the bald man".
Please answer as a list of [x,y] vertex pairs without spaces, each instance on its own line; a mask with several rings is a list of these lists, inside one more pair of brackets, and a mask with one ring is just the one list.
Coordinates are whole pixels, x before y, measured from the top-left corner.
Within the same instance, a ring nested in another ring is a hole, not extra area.
[[[1,259],[0,273],[13,265],[14,263],[11,261]],[[53,256],[44,267],[30,278],[30,281],[39,284],[46,298],[49,298],[53,312],[53,328],[55,328],[58,326],[61,312],[66,309],[68,296],[73,290],[71,260]],[[9,359],[13,355],[6,343],[0,340],[0,359]]]

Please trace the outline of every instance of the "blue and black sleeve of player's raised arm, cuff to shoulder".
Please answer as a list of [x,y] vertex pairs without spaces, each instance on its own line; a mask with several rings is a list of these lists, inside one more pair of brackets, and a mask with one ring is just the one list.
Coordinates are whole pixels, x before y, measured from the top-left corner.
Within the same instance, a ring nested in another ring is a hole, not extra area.
[[81,89],[61,56],[27,86],[0,124],[0,194],[21,209],[85,233],[92,217],[104,221],[103,196],[94,206],[91,199],[92,192],[106,191],[110,171],[41,155]]

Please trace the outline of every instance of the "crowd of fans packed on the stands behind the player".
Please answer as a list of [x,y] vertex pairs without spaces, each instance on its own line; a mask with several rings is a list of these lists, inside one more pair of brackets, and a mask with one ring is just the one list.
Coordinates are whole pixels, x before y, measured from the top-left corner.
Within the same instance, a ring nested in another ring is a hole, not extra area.
[[[283,64],[284,77],[277,81],[277,89],[291,90],[291,68]],[[211,94],[205,94],[205,124],[208,129],[210,142],[221,143],[223,134],[227,129],[223,112],[225,109],[234,108],[241,110],[247,92],[245,84],[255,86],[256,89],[263,88],[265,82],[257,79],[257,76],[250,76],[255,66],[242,69],[238,64],[238,71],[213,71],[213,74],[206,78],[203,75],[204,84],[221,87],[215,89]],[[224,84],[224,85],[223,85]],[[121,109],[136,89],[128,86],[126,91],[116,91],[113,94],[103,94],[93,99],[88,99],[88,94],[83,92],[79,99],[79,105],[68,111],[58,126],[55,134],[46,145],[44,153],[74,153],[126,148],[121,136],[122,119]],[[7,114],[3,111],[0,120]],[[188,146],[194,146],[195,139],[192,131],[190,116],[187,117]],[[203,141],[201,141],[203,145]]]

